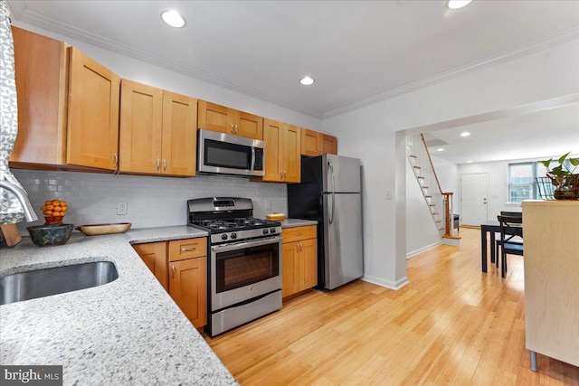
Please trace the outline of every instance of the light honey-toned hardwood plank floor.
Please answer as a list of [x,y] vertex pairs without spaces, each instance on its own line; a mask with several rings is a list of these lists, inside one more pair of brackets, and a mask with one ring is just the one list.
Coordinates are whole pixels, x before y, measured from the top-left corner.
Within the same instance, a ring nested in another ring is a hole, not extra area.
[[479,230],[408,260],[398,291],[356,281],[312,291],[248,325],[205,337],[245,385],[579,385],[543,355],[528,367],[522,258],[480,271]]

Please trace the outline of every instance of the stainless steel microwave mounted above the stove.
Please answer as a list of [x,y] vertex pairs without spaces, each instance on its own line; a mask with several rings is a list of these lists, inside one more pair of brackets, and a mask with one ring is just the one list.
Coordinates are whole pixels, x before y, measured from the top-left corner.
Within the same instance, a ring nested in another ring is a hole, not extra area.
[[199,174],[265,174],[265,142],[204,129],[197,134]]

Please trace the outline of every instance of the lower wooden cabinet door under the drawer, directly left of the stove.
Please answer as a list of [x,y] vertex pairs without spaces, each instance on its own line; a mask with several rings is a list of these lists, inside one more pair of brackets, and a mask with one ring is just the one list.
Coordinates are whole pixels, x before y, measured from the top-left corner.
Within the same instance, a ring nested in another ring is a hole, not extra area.
[[207,258],[174,261],[169,294],[195,327],[207,324]]

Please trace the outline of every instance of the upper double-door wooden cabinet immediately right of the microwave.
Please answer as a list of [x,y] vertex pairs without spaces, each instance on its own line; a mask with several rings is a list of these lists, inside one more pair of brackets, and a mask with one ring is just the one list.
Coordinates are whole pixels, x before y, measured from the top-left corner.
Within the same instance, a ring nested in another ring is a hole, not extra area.
[[264,119],[265,175],[263,182],[299,183],[301,179],[301,129]]

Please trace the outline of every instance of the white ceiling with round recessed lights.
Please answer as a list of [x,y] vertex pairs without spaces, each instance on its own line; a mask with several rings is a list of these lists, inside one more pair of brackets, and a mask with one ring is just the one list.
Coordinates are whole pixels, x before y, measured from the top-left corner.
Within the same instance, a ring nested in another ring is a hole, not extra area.
[[[11,0],[8,5],[17,21],[318,118],[579,36],[579,1],[565,0],[474,0],[456,11],[446,0]],[[185,15],[185,29],[162,23],[161,12],[170,8]],[[313,86],[299,85],[304,75],[316,80]],[[576,106],[561,111],[565,127],[578,127]],[[530,126],[528,118],[511,118],[501,127],[518,127],[512,133],[518,143],[521,133],[527,138],[536,133],[542,145],[538,136],[545,122],[538,127],[536,121],[548,118],[553,127],[558,119],[555,110],[545,114],[528,117]],[[503,142],[507,137],[494,124],[479,124],[479,130],[498,130],[482,137]],[[454,131],[460,128],[436,135],[451,144]],[[496,143],[489,141],[489,154]],[[443,153],[453,162],[466,161],[458,149]]]

